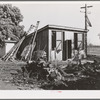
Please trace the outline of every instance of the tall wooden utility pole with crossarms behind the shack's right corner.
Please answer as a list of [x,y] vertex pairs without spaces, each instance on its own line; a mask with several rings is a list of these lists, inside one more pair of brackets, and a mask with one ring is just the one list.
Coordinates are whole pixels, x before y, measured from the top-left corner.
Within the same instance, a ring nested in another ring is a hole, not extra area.
[[[87,6],[87,4],[85,4],[85,7],[81,7],[81,9],[85,9],[85,30],[87,31],[87,26],[89,24],[90,27],[92,27],[89,19],[88,19],[88,16],[87,16],[87,8],[90,8],[90,7],[93,7],[93,6]],[[86,53],[86,56],[87,56],[87,32],[84,33],[82,35],[82,40],[83,40],[83,45],[82,45],[82,49],[85,50],[85,53]]]

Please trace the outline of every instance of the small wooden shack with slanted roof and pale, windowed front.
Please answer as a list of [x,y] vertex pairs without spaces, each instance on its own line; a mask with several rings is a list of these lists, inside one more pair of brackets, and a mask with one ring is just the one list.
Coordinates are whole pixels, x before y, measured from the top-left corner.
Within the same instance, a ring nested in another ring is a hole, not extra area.
[[[44,50],[47,53],[48,61],[67,60],[72,58],[73,50],[77,50],[81,44],[84,49],[83,34],[86,30],[59,25],[46,25],[37,32],[35,50]],[[32,34],[23,41],[18,58],[26,45],[29,44]]]

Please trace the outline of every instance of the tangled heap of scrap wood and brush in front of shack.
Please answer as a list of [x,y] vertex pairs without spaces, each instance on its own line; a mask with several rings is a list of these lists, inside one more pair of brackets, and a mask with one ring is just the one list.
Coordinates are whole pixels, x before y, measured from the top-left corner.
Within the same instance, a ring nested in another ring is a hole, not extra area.
[[47,62],[44,58],[45,56],[38,57],[37,60],[22,67],[24,78],[26,80],[29,78],[44,80],[42,85],[44,89],[50,89],[50,87],[52,89],[78,89],[80,86],[78,84],[84,83],[83,80],[91,79],[90,81],[92,81],[100,75],[100,63],[95,60],[83,60],[84,63],[77,64],[75,61],[69,60]]

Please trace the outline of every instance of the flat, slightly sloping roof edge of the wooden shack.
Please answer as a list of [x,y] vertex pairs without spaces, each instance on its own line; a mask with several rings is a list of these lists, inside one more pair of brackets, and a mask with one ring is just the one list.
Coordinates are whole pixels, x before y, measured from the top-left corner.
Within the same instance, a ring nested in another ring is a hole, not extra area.
[[88,30],[82,28],[67,27],[67,26],[60,26],[60,25],[46,25],[43,28],[39,29],[38,32],[41,32],[45,29],[56,29],[62,31],[73,31],[73,32],[82,32],[82,33],[88,32]]

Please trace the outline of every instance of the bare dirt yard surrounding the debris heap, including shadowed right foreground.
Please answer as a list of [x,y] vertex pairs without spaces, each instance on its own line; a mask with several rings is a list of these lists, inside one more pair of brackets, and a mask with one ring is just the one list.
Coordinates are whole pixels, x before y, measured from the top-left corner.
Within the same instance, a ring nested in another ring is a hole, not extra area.
[[[96,60],[100,64],[100,57],[88,56],[87,59]],[[75,76],[73,77],[74,81],[68,81],[67,78],[66,84],[68,87],[65,84],[64,87],[58,85],[59,83],[54,86],[54,84],[49,84],[45,80],[37,80],[34,76],[33,78],[28,78],[27,75],[23,77],[21,67],[24,65],[26,63],[21,61],[4,62],[0,60],[0,90],[100,90],[100,72],[98,74],[95,74],[95,72],[84,73],[84,75],[81,75],[80,72],[77,75],[77,72],[72,73]],[[86,72],[88,72],[87,69]],[[85,76],[85,74],[87,75]]]

